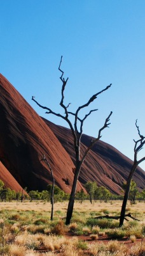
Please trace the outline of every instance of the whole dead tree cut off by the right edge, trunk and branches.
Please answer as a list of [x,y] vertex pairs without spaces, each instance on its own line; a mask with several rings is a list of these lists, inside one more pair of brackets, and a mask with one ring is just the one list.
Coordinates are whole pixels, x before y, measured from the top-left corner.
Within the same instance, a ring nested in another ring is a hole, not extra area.
[[137,153],[142,149],[144,143],[145,143],[145,137],[141,135],[140,131],[139,131],[139,126],[137,125],[137,120],[135,122],[135,126],[137,127],[137,131],[139,134],[140,139],[135,141],[135,146],[134,146],[134,163],[132,165],[132,168],[130,170],[130,173],[128,175],[127,178],[127,185],[126,185],[126,189],[125,189],[125,195],[123,197],[123,203],[122,203],[122,207],[121,207],[121,214],[120,214],[120,227],[123,225],[123,222],[125,220],[125,211],[126,211],[126,206],[127,206],[127,200],[128,200],[128,194],[130,191],[130,183],[132,180],[132,176],[134,175],[134,172],[137,168],[137,166],[145,160],[145,157],[142,157],[140,160],[137,161]]

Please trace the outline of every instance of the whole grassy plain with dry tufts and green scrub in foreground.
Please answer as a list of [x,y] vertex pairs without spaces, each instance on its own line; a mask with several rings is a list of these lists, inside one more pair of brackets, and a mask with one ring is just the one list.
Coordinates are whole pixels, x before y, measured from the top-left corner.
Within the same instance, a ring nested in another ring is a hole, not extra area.
[[[128,256],[145,254],[144,202],[130,204],[127,212],[141,220],[125,221],[119,228],[118,220],[95,217],[120,215],[121,200],[110,202],[75,202],[69,226],[65,225],[68,202],[54,205],[44,201],[0,203],[0,255],[33,256]],[[105,239],[105,241],[104,241]]]

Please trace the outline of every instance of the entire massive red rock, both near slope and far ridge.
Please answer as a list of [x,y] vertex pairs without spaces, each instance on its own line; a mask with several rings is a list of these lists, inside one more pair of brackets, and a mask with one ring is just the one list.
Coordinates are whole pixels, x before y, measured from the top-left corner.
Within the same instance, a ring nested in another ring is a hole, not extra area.
[[[45,154],[55,177],[55,184],[71,192],[74,168],[74,148],[71,131],[41,118],[20,93],[0,74],[0,179],[15,190],[46,189],[52,183]],[[82,153],[90,145],[83,134]],[[3,165],[1,164],[3,163]],[[95,181],[111,192],[120,194],[132,161],[111,145],[98,141],[90,150],[79,176],[78,191],[87,181]],[[145,173],[137,168],[134,180],[145,187]]]

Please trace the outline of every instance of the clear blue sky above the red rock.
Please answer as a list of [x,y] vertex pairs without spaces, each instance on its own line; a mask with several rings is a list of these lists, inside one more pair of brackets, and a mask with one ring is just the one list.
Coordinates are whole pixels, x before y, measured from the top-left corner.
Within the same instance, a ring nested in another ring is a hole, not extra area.
[[[112,83],[90,109],[99,108],[83,132],[96,136],[110,111],[111,125],[102,140],[133,159],[135,120],[145,135],[145,1],[144,0],[0,0],[0,72],[36,112],[55,124],[36,99],[59,113],[61,81],[69,77],[65,103],[75,111]],[[139,158],[145,156],[142,149]],[[141,164],[145,170],[145,163]]]

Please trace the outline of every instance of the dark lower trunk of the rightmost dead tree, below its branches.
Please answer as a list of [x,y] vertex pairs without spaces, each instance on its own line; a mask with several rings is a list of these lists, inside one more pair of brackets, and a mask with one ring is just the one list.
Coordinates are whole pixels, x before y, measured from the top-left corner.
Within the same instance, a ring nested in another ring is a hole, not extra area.
[[127,206],[127,200],[128,200],[128,194],[130,190],[130,182],[132,180],[132,176],[137,168],[137,163],[134,163],[132,166],[132,170],[130,171],[130,174],[127,179],[127,187],[125,189],[125,195],[123,197],[123,203],[121,207],[121,214],[120,214],[120,227],[123,225],[123,222],[125,220],[125,211],[126,211],[126,206]]

